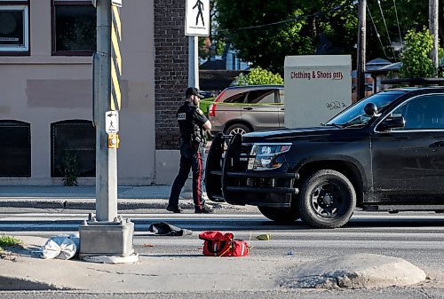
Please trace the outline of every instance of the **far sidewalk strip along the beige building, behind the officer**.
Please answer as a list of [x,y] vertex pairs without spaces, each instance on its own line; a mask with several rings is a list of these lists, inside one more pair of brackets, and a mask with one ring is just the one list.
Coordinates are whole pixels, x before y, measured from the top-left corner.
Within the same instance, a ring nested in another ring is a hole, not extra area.
[[[119,186],[118,209],[165,209],[170,185]],[[34,209],[95,209],[96,187],[0,186],[0,207]],[[182,209],[193,209],[191,194],[183,193]],[[211,204],[210,202],[208,202]]]

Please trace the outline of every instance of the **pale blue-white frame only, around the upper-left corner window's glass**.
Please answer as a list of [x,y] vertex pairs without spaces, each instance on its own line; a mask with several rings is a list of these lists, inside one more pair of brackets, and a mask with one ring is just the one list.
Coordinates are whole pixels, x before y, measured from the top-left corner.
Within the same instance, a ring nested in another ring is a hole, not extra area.
[[29,0],[0,0],[0,9],[7,7],[15,11],[23,12],[23,46],[4,46],[0,44],[0,56],[29,56],[30,49],[30,3]]

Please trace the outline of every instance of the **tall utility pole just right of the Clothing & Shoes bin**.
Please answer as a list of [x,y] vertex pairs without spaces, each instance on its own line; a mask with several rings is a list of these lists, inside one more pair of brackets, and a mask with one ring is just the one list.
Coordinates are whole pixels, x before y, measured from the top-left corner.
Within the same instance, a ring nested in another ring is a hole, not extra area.
[[359,1],[358,8],[358,58],[356,60],[357,70],[356,70],[356,96],[357,100],[365,98],[365,49],[366,49],[366,8],[367,0]]

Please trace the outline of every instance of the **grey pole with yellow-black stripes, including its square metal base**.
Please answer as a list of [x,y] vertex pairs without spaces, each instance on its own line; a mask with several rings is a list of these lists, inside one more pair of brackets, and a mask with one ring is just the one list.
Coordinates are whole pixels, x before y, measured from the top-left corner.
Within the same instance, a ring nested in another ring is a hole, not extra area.
[[93,59],[96,127],[96,215],[79,227],[79,256],[133,256],[134,224],[117,216],[117,148],[122,75],[122,0],[92,0],[97,8]]

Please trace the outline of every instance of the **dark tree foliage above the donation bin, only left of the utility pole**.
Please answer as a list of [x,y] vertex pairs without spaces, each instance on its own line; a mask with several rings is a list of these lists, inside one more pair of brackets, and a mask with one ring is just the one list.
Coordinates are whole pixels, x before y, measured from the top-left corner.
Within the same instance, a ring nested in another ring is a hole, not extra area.
[[219,34],[256,67],[282,73],[286,55],[355,52],[353,0],[217,2]]

